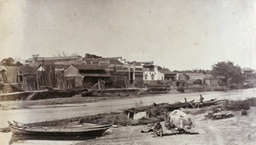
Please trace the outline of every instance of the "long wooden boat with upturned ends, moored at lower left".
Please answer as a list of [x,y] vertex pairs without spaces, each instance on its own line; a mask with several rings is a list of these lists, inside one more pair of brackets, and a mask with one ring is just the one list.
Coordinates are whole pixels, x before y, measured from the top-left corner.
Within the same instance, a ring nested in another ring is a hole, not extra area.
[[113,124],[95,125],[95,126],[67,126],[67,127],[44,127],[44,126],[28,126],[20,123],[9,123],[9,128],[15,135],[29,136],[101,136]]

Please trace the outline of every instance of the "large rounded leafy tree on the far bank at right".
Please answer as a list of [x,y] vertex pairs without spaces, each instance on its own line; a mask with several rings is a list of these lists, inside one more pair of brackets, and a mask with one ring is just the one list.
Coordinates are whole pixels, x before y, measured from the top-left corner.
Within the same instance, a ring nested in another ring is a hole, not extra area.
[[244,80],[241,67],[234,66],[234,63],[231,61],[221,61],[218,64],[212,65],[212,75],[222,77],[226,84],[228,84],[230,78],[232,83],[241,83]]

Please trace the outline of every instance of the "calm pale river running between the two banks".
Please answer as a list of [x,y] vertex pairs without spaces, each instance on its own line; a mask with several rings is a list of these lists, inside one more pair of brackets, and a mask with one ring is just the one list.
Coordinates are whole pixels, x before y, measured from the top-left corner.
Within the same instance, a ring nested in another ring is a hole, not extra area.
[[[155,96],[143,96],[138,98],[127,98],[120,100],[105,100],[101,102],[90,102],[83,104],[75,104],[70,107],[67,105],[58,106],[32,106],[30,109],[13,109],[13,110],[0,110],[0,128],[7,127],[8,120],[16,120],[24,123],[32,123],[38,121],[46,121],[53,119],[68,119],[79,116],[94,115],[97,113],[110,113],[117,112],[121,109],[130,107],[148,106],[153,103],[162,102],[184,102],[184,97],[190,100],[198,100],[200,94],[205,98],[204,101],[217,98],[218,100],[230,99],[230,100],[245,100],[247,97],[255,97],[255,89],[247,90],[229,90],[229,91],[207,91],[207,92],[195,92],[195,93],[178,93],[178,94],[161,94]],[[10,140],[10,133],[0,133],[0,141]],[[24,141],[23,141],[24,142]],[[33,141],[32,144],[38,144]],[[40,142],[39,144],[44,144]],[[51,141],[47,141],[45,144],[49,144]],[[59,141],[61,142],[61,141]],[[71,141],[61,142],[69,144]],[[7,143],[7,142],[5,142]],[[26,141],[25,144],[30,144]],[[51,144],[51,143],[50,143]],[[58,143],[57,143],[58,144]]]

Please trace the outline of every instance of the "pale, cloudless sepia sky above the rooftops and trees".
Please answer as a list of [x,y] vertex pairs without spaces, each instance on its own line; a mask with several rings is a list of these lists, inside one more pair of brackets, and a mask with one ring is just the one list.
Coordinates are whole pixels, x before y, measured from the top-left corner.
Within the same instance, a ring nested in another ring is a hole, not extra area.
[[0,59],[95,54],[256,70],[255,0],[0,0]]

